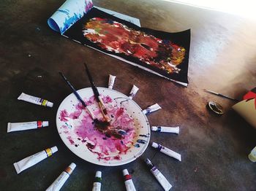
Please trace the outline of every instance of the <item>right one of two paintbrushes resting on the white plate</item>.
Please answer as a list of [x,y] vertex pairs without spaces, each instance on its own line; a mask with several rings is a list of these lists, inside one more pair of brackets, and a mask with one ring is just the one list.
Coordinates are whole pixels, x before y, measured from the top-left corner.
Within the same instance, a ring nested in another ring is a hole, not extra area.
[[97,100],[97,102],[99,104],[99,108],[100,108],[100,110],[102,112],[103,117],[105,118],[105,120],[108,120],[108,117],[106,116],[107,115],[106,106],[105,106],[104,102],[102,101],[102,98],[99,95],[99,91],[97,89],[97,86],[94,84],[94,80],[91,77],[91,73],[90,73],[86,63],[84,63],[84,66],[86,66],[86,74],[87,74],[87,76],[89,78],[89,81],[91,83],[91,89],[94,92],[94,97],[96,98],[96,100]]

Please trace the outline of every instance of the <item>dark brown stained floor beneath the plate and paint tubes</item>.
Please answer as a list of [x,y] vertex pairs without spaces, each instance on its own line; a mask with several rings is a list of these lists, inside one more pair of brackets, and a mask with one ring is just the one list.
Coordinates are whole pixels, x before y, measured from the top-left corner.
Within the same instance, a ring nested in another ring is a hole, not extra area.
[[[181,87],[127,63],[61,37],[47,19],[64,1],[4,0],[0,4],[0,190],[45,190],[69,163],[77,164],[63,190],[91,190],[95,171],[102,171],[102,190],[125,190],[123,168],[132,173],[137,190],[161,190],[143,159],[149,157],[173,184],[172,190],[256,190],[255,163],[247,158],[256,146],[256,130],[230,107],[233,101],[205,93],[204,88],[241,99],[256,85],[256,22],[167,1],[97,0],[99,7],[138,17],[143,27],[176,32],[192,30],[189,87]],[[114,74],[115,89],[128,94],[140,87],[135,101],[162,110],[148,116],[151,125],[179,125],[181,133],[152,132],[151,141],[181,153],[182,162],[148,147],[137,160],[118,167],[88,163],[67,149],[56,129],[61,101],[70,93],[58,71],[76,87],[89,87],[80,69],[87,61],[94,81],[106,87]],[[98,72],[98,67],[104,69]],[[42,77],[38,77],[42,76]],[[53,109],[18,101],[21,92],[53,101]],[[217,101],[226,113],[208,112]],[[7,122],[49,120],[50,127],[7,133]],[[33,168],[15,173],[12,163],[56,145],[59,152]]]

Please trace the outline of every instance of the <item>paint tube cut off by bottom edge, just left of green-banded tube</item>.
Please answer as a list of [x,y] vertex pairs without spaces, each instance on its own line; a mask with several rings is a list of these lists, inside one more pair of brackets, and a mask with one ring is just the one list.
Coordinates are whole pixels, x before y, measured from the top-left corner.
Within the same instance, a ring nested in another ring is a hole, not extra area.
[[76,165],[75,163],[71,163],[65,171],[63,171],[59,177],[53,182],[53,184],[50,184],[50,187],[46,189],[46,191],[58,191],[61,190],[61,187],[65,184],[67,179],[69,178],[70,174],[74,171]]

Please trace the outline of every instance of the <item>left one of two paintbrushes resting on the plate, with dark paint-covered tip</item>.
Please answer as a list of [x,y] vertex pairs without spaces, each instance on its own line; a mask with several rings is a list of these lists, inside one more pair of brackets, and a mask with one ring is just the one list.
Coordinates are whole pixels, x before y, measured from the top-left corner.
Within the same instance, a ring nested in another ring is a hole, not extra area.
[[100,121],[97,119],[97,117],[94,116],[94,113],[91,112],[91,110],[89,109],[89,107],[86,105],[86,103],[83,101],[83,99],[80,97],[80,95],[78,94],[78,92],[75,90],[75,87],[72,86],[72,84],[69,82],[69,80],[67,80],[67,77],[64,76],[64,74],[62,74],[62,72],[59,71],[59,74],[61,75],[61,77],[64,79],[65,82],[67,82],[67,85],[69,85],[69,87],[72,89],[73,93],[75,94],[75,97],[78,98],[78,100],[80,101],[80,103],[87,109],[87,112],[89,112],[91,119],[94,120],[94,124],[95,127],[100,129],[100,130],[105,130],[108,128],[108,126],[110,125],[110,122],[104,120],[104,121]]

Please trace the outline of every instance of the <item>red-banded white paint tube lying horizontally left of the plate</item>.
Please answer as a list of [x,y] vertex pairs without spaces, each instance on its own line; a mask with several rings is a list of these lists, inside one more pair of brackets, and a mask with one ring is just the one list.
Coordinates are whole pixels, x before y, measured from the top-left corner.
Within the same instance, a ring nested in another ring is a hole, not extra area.
[[8,122],[7,133],[18,130],[29,130],[36,128],[44,128],[49,125],[48,121],[32,121],[32,122]]

